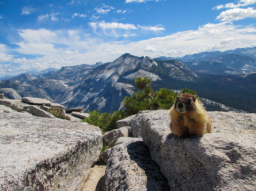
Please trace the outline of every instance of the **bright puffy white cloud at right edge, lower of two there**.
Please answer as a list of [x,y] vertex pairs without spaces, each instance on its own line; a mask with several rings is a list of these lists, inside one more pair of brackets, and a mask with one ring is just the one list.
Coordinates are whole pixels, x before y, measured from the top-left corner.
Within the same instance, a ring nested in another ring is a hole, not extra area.
[[252,7],[247,9],[235,8],[223,11],[216,19],[220,21],[237,21],[245,18],[256,18],[256,10]]

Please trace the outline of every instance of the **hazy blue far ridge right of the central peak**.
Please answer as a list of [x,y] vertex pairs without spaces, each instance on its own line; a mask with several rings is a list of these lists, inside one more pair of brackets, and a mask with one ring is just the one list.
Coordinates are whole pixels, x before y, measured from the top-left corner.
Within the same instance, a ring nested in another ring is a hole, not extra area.
[[195,73],[239,74],[256,71],[256,47],[231,51],[203,52],[183,57],[158,57],[154,60],[179,60]]

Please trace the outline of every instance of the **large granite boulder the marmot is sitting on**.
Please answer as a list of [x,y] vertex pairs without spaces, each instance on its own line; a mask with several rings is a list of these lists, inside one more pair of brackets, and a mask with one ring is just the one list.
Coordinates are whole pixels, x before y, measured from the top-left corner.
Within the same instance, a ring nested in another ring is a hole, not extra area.
[[170,190],[255,190],[256,114],[208,115],[213,132],[191,139],[172,134],[167,110],[137,115],[136,125]]

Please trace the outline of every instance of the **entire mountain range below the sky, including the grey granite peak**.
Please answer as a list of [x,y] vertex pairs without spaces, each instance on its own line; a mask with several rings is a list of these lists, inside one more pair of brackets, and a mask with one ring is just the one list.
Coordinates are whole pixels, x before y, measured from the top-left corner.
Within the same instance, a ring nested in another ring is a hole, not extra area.
[[[111,113],[122,108],[125,96],[137,91],[134,79],[146,76],[154,90],[188,87],[201,97],[256,112],[255,55],[255,47],[199,53],[176,60],[124,54],[109,63],[63,67],[37,76],[21,74],[0,81],[0,88],[13,88],[21,97],[46,98],[68,108]],[[207,103],[211,110],[224,108],[209,103],[212,102]]]

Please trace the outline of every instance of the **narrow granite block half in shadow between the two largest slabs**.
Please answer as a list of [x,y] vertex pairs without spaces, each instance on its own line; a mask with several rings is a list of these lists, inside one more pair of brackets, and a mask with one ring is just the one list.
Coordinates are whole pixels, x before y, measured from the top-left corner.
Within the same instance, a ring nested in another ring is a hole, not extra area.
[[105,171],[106,191],[169,190],[160,168],[152,161],[142,138],[121,137],[112,147]]

